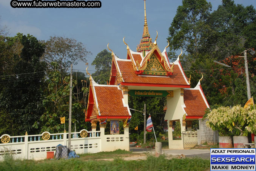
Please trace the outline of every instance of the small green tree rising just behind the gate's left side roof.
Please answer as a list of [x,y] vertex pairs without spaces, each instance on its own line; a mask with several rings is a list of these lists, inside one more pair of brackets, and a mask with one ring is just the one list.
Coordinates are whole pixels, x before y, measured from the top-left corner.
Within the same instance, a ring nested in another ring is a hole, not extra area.
[[92,65],[96,65],[96,72],[92,74],[98,84],[106,84],[111,72],[112,56],[106,49],[97,54]]

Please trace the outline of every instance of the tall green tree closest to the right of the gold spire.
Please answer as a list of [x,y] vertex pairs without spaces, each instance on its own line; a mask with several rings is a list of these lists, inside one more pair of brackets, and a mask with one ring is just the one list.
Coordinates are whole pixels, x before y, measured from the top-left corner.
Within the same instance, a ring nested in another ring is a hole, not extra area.
[[182,5],[177,8],[169,28],[169,56],[176,56],[175,51],[181,48],[188,53],[183,56],[182,62],[188,62],[197,57],[201,49],[201,40],[204,39],[204,32],[209,29],[206,21],[210,11],[211,3],[206,0],[182,0]]

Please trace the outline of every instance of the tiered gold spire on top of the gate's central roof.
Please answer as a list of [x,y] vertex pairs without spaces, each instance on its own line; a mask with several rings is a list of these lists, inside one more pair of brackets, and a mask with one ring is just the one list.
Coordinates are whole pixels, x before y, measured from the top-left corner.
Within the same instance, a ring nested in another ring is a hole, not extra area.
[[152,38],[148,32],[148,23],[147,23],[147,15],[146,15],[146,0],[144,0],[144,28],[142,39],[140,40],[140,44],[137,45],[137,52],[141,52],[143,50],[151,50],[152,49]]

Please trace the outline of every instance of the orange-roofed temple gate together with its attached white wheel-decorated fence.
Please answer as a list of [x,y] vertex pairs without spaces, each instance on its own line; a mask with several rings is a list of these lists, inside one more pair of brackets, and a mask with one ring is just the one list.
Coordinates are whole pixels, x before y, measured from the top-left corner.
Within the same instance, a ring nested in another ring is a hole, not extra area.
[[[85,121],[91,122],[91,131],[81,130],[72,133],[71,150],[79,153],[97,153],[100,151],[114,151],[117,149],[130,150],[129,125],[124,133],[119,134],[119,122],[131,118],[128,106],[130,96],[161,96],[167,98],[165,121],[168,123],[169,148],[183,149],[186,143],[192,143],[181,136],[181,140],[173,140],[172,127],[174,121],[179,121],[182,134],[191,130],[191,122],[202,118],[209,108],[202,87],[198,84],[190,88],[188,79],[180,63],[180,55],[173,63],[169,62],[166,49],[160,51],[157,45],[157,36],[152,42],[148,32],[146,5],[144,1],[145,19],[142,39],[137,51],[130,49],[125,38],[126,59],[118,58],[109,48],[112,55],[111,74],[108,85],[99,85],[90,75],[88,105],[85,112]],[[160,117],[160,116],[159,116]],[[111,134],[105,134],[104,121],[110,122]],[[100,130],[96,130],[99,122]],[[188,136],[189,137],[189,136]],[[0,160],[5,153],[15,154],[23,159],[44,159],[47,151],[55,151],[58,144],[67,145],[67,133],[50,134],[44,132],[38,135],[0,136]]]

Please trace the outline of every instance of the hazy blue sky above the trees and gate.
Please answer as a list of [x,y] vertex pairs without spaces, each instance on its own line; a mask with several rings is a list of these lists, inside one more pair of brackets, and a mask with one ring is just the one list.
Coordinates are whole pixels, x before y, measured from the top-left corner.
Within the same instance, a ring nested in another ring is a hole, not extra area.
[[[9,28],[9,36],[18,32],[31,34],[39,40],[48,40],[50,36],[65,36],[82,42],[93,55],[88,56],[91,64],[95,56],[109,48],[119,56],[126,58],[126,43],[136,51],[143,33],[143,0],[101,0],[101,8],[12,8],[11,0],[0,0],[0,25]],[[213,10],[221,5],[221,0],[207,0]],[[234,0],[236,4],[253,5],[255,0]],[[162,51],[167,46],[168,28],[182,0],[147,0],[147,21],[152,39],[158,31],[157,44]],[[85,63],[79,63],[74,69],[85,70]],[[91,73],[94,66],[89,66]]]

